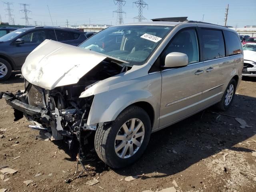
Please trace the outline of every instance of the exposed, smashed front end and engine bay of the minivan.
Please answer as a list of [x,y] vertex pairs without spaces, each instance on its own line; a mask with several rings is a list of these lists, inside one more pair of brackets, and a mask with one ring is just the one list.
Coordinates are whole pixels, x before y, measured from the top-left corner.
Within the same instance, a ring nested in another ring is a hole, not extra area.
[[86,124],[94,96],[79,98],[80,94],[97,82],[129,69],[106,58],[76,84],[47,90],[25,79],[25,90],[15,94],[1,92],[0,97],[14,108],[15,120],[24,115],[32,123],[31,128],[47,133],[51,140],[64,139],[70,149],[74,143],[79,144],[82,154],[88,136],[103,124]]

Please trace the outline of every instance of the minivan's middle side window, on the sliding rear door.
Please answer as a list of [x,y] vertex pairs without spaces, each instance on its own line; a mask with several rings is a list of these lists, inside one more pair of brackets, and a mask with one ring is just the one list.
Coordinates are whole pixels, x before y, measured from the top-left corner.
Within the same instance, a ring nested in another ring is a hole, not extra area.
[[222,31],[202,29],[202,47],[204,60],[225,56],[225,45]]

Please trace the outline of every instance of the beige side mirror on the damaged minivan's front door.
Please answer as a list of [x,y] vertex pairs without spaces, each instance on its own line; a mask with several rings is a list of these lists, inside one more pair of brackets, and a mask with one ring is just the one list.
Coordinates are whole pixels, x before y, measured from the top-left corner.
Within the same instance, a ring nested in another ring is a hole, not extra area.
[[183,67],[188,65],[187,54],[180,52],[171,52],[166,55],[164,67]]

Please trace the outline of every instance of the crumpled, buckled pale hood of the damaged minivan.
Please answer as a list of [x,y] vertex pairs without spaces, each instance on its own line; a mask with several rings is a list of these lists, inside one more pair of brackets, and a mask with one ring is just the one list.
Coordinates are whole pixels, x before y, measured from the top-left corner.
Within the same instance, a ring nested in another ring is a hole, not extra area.
[[106,58],[117,63],[127,63],[91,50],[44,40],[28,55],[21,71],[28,82],[52,90],[59,86],[76,84]]

